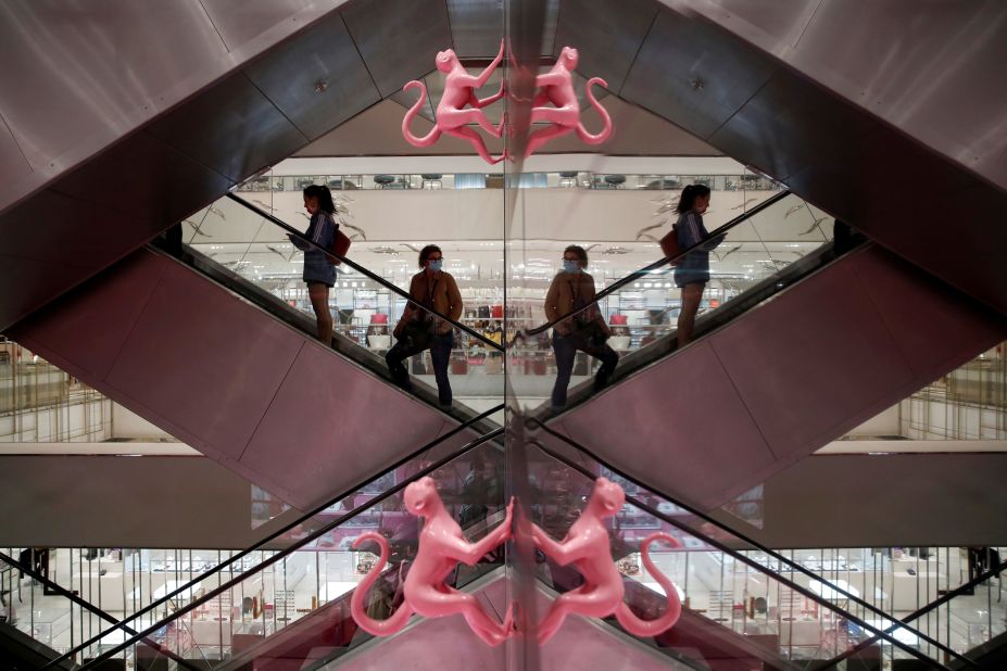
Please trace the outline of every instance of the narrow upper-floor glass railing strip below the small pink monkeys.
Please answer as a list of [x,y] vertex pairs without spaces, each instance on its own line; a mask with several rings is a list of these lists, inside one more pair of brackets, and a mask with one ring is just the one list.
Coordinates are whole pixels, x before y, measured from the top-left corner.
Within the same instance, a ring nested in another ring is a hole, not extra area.
[[[509,183],[508,178],[517,183]],[[332,191],[382,189],[643,189],[647,191],[680,191],[685,185],[701,183],[714,191],[778,191],[780,185],[761,175],[657,175],[559,170],[521,173],[457,173],[420,174],[355,174],[355,175],[273,175],[253,177],[238,187],[239,192],[272,193],[303,191],[312,185],[323,185]]]

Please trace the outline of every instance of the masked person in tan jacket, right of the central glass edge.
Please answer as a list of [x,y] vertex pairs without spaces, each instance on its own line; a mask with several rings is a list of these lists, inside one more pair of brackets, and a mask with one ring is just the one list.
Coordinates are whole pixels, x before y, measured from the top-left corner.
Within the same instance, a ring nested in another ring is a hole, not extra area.
[[556,355],[556,384],[553,387],[553,409],[566,405],[566,388],[570,384],[574,371],[574,358],[577,351],[587,352],[601,359],[602,366],[594,378],[594,390],[602,389],[612,377],[619,355],[605,344],[612,334],[594,302],[594,278],[584,273],[588,267],[588,252],[579,245],[571,244],[563,251],[563,271],[553,278],[553,283],[545,294],[545,318],[549,321],[590,305],[576,317],[570,317],[553,326],[553,352]]

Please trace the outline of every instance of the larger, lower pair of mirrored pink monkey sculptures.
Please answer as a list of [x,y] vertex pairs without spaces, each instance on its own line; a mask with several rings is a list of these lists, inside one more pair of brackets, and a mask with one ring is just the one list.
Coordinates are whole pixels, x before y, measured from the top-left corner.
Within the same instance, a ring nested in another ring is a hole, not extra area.
[[[615,615],[627,631],[638,636],[654,636],[675,625],[682,612],[682,605],[675,585],[651,560],[650,545],[662,540],[679,547],[678,541],[669,534],[657,532],[641,543],[643,565],[664,588],[668,608],[655,620],[642,620],[622,603],[622,577],[612,560],[608,530],[603,519],[617,514],[626,501],[626,494],[618,484],[599,478],[591,493],[588,507],[570,527],[566,537],[556,542],[538,526],[531,526],[536,546],[561,566],[572,564],[583,575],[584,583],[562,594],[550,606],[549,612],[539,624],[539,643],[544,644],[558,631],[568,615],[603,618]],[[507,505],[504,521],[477,543],[469,543],[462,528],[449,515],[435,488],[433,480],[423,478],[405,489],[406,509],[423,517],[424,528],[419,534],[419,549],[405,578],[403,595],[405,603],[389,619],[374,620],[364,612],[364,597],[388,561],[388,541],[383,536],[367,532],[353,543],[356,548],[365,541],[376,541],[381,548],[377,565],[361,581],[353,592],[350,608],[353,619],[364,631],[376,636],[388,636],[405,626],[414,612],[428,618],[461,613],[473,631],[491,646],[500,645],[514,633],[513,604],[507,607],[502,623],[491,618],[476,600],[476,597],[444,584],[444,580],[460,561],[475,565],[480,557],[511,537],[514,502]]]

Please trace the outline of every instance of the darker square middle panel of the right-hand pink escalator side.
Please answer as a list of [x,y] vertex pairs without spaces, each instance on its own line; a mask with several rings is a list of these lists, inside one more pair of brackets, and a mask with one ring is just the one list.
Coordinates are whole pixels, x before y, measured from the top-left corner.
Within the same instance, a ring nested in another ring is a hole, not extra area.
[[[805,454],[912,375],[854,270],[856,254],[710,339],[779,457]],[[880,412],[883,407],[877,407]]]

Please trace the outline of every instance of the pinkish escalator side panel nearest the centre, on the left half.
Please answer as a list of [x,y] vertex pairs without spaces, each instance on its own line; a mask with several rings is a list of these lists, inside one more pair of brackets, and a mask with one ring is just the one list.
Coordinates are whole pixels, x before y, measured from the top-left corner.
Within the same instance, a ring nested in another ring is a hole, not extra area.
[[307,343],[240,464],[304,509],[378,474],[437,438],[444,423],[439,413],[386,381]]

